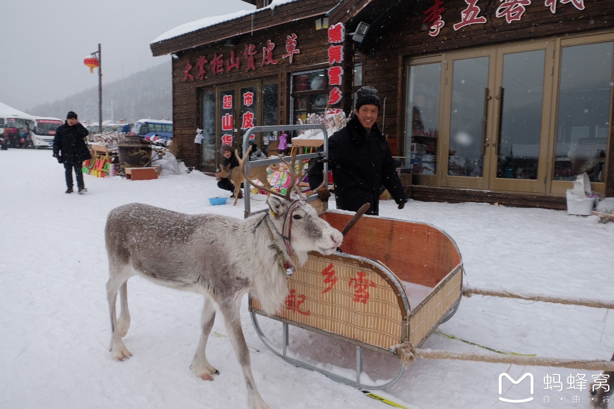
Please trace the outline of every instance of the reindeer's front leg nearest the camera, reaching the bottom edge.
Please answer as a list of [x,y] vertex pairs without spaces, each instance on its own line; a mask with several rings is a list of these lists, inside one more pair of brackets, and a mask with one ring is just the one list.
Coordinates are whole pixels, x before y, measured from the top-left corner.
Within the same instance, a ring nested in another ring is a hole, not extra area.
[[256,389],[256,384],[254,382],[254,376],[252,375],[249,350],[247,349],[247,343],[245,342],[243,330],[241,329],[240,307],[240,299],[236,301],[225,300],[220,303],[220,312],[224,316],[230,342],[232,343],[236,358],[243,370],[243,377],[247,385],[247,406],[249,409],[269,409],[265,401],[262,400],[260,393],[258,393],[258,389]]

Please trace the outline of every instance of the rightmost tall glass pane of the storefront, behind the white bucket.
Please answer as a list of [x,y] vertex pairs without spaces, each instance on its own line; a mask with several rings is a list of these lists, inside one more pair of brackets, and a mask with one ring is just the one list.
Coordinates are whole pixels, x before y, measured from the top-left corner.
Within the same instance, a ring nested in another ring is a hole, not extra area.
[[554,180],[604,182],[614,42],[563,47]]

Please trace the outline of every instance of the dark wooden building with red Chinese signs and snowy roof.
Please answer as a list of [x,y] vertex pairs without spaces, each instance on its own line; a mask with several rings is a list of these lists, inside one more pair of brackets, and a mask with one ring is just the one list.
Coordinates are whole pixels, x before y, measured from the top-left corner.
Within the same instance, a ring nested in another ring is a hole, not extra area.
[[238,146],[252,124],[349,113],[370,85],[413,199],[564,209],[582,172],[614,196],[614,2],[247,2],[257,9],[151,44],[173,56],[174,140],[188,166],[214,172],[222,143]]

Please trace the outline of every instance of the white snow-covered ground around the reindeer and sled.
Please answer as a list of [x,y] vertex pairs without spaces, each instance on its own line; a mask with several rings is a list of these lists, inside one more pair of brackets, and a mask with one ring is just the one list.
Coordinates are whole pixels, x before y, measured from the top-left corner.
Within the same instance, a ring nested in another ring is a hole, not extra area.
[[[230,194],[200,172],[143,181],[84,177],[89,193],[64,194],[64,168],[51,151],[0,151],[0,408],[246,408],[243,376],[227,337],[214,332],[209,337],[208,358],[220,370],[215,381],[200,380],[188,369],[200,336],[198,294],[131,278],[132,324],[124,342],[133,357],[110,359],[103,235],[107,214],[122,204],[241,218],[243,200],[235,207],[231,201],[209,205],[208,197]],[[448,232],[461,250],[467,285],[612,299],[614,223],[489,204],[409,201],[397,210],[394,202],[384,201],[380,208],[381,216],[431,223]],[[241,313],[252,371],[271,409],[389,407],[274,356],[254,332],[247,297]],[[280,345],[281,324],[265,318],[260,323]],[[219,315],[213,331],[228,334]],[[614,351],[614,317],[573,305],[473,296],[462,299],[456,315],[438,331],[538,356],[610,359]],[[290,347],[294,356],[354,376],[352,345],[290,327]],[[438,334],[422,348],[488,352]],[[365,355],[363,380],[381,381],[398,368],[396,359]],[[418,359],[381,394],[412,409],[503,408],[510,404],[498,400],[498,377],[506,371],[514,379],[523,372],[534,375],[535,400],[523,407],[590,407],[586,389],[566,389],[565,381],[577,373],[591,380],[596,372],[467,361]],[[548,373],[561,375],[561,392],[557,386],[543,389]],[[503,394],[523,399],[529,396],[527,382],[505,380]],[[543,403],[546,395],[550,403]],[[572,403],[573,396],[580,403]]]

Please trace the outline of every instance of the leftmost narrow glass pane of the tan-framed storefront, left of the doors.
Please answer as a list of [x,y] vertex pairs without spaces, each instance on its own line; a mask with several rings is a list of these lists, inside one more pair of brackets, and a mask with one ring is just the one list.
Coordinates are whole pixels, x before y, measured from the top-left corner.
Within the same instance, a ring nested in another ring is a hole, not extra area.
[[405,161],[416,175],[437,173],[440,82],[441,63],[409,67]]

